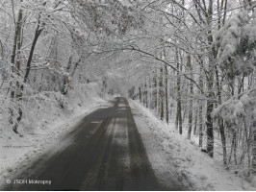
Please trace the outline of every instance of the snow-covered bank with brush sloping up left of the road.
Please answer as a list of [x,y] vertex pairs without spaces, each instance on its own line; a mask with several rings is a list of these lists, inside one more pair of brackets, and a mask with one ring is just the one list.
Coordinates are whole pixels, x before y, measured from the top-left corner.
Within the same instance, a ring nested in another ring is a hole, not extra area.
[[80,84],[66,97],[43,92],[40,98],[44,99],[32,100],[23,109],[18,127],[22,137],[12,131],[7,120],[0,118],[0,185],[49,149],[64,146],[68,142],[62,139],[64,135],[91,111],[110,107],[112,104],[101,99],[99,93],[96,83]]

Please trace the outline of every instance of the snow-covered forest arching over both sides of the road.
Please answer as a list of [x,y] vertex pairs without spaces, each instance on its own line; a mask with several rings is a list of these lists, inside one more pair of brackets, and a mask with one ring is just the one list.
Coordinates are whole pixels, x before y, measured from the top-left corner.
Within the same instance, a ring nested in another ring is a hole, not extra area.
[[31,111],[51,100],[66,108],[92,81],[102,95],[140,100],[226,169],[255,173],[252,0],[2,0],[0,9],[1,130],[26,137],[19,125]]

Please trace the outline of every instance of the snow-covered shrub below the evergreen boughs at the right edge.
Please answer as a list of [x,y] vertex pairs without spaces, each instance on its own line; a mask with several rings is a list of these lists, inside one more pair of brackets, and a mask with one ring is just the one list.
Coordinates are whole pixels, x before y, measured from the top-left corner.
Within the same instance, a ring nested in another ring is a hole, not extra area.
[[[256,170],[256,88],[222,103],[214,109],[213,116],[223,120],[226,132],[233,133],[229,163],[235,154],[236,169],[240,168],[242,174]],[[242,142],[236,141],[238,134]]]

